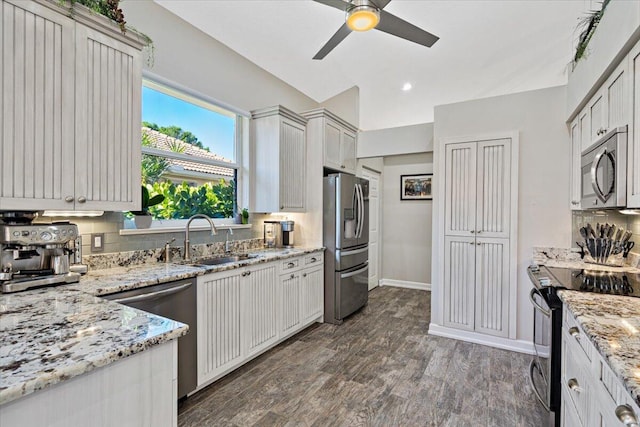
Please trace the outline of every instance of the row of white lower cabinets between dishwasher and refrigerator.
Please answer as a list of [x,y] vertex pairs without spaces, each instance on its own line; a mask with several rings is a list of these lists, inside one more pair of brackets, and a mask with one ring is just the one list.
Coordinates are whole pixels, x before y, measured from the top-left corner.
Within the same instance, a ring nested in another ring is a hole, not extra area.
[[321,321],[323,291],[321,252],[199,276],[198,388]]

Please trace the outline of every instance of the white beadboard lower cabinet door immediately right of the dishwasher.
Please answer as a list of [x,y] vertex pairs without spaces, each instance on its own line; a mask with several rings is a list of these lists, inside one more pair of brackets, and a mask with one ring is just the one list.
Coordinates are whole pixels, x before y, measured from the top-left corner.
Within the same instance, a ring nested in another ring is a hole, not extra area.
[[239,270],[198,276],[198,384],[242,359],[242,275]]

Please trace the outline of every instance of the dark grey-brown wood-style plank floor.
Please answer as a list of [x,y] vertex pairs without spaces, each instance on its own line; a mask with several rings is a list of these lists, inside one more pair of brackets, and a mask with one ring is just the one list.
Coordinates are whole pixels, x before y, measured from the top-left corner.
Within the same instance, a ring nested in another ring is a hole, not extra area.
[[382,287],[194,396],[179,426],[545,426],[531,356],[427,334],[431,293]]

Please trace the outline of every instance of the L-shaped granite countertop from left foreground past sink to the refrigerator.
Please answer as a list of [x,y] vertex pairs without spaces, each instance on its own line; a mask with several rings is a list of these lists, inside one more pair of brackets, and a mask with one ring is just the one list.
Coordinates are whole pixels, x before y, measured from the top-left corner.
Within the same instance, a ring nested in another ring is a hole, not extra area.
[[92,270],[79,283],[0,293],[0,404],[185,335],[188,326],[96,296],[322,251],[252,251],[217,266],[149,263]]

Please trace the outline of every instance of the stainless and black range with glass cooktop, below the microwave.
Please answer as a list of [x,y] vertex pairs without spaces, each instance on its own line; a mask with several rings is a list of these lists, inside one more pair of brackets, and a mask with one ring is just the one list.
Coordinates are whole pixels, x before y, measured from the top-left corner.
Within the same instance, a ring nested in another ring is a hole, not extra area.
[[529,377],[536,397],[550,412],[551,425],[560,425],[562,301],[558,291],[640,297],[640,274],[546,266],[530,266],[527,273],[533,283],[529,299],[534,307],[536,351]]

